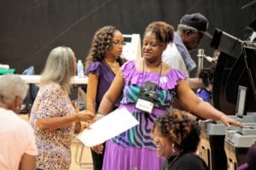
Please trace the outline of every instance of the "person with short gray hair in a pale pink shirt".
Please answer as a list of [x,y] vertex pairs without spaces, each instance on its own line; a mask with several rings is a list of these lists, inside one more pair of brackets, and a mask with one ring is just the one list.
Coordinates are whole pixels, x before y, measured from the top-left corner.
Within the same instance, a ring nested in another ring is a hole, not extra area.
[[0,169],[34,170],[38,154],[31,125],[16,115],[28,85],[17,75],[0,77]]

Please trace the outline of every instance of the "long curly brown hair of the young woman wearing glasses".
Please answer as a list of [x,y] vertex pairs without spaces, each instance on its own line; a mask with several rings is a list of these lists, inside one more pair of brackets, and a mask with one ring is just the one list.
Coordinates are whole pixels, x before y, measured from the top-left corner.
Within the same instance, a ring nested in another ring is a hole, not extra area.
[[[89,54],[85,59],[85,68],[92,62],[102,60],[106,52],[113,47],[113,36],[115,31],[119,30],[114,26],[104,26],[96,31],[91,42]],[[125,60],[119,58],[117,58],[116,61],[119,62],[120,65],[125,62]]]

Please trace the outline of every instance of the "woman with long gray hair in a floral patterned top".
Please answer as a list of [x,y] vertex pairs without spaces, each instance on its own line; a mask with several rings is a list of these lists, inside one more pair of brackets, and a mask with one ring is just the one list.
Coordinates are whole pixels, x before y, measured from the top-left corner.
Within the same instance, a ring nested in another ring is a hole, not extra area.
[[95,117],[75,111],[68,96],[76,63],[73,50],[67,47],[52,49],[46,61],[30,118],[38,146],[37,169],[69,169],[75,127]]

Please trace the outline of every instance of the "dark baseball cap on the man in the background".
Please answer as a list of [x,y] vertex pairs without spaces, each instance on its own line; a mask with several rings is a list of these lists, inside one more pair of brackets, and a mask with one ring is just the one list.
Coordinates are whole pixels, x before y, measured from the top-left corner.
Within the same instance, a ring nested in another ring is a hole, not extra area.
[[209,32],[207,32],[209,22],[207,18],[200,13],[184,14],[179,24],[195,28],[207,37],[212,38]]

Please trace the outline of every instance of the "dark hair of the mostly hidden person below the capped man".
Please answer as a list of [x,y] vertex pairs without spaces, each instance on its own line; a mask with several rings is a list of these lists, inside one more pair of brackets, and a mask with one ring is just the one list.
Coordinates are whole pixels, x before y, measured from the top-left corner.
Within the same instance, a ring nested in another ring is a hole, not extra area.
[[211,66],[209,66],[207,68],[201,69],[201,71],[199,72],[198,77],[201,78],[201,81],[205,87],[208,87],[209,84],[213,83],[215,68],[216,68],[216,65],[212,64]]

